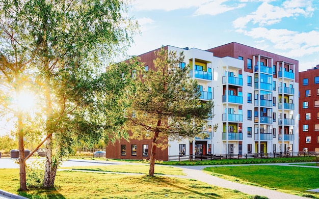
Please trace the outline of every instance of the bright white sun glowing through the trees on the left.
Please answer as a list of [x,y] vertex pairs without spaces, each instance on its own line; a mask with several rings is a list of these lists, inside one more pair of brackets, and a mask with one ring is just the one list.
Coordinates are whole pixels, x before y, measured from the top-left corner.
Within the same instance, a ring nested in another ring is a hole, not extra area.
[[17,97],[18,107],[24,112],[32,111],[36,106],[35,95],[28,91],[22,91]]

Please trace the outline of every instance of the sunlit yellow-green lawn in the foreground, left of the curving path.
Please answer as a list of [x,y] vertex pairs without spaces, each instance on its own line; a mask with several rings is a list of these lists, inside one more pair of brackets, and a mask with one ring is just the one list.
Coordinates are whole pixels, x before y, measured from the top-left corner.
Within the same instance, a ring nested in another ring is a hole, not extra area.
[[18,192],[19,169],[0,169],[0,189],[29,198],[257,198],[196,180],[59,171],[52,189]]

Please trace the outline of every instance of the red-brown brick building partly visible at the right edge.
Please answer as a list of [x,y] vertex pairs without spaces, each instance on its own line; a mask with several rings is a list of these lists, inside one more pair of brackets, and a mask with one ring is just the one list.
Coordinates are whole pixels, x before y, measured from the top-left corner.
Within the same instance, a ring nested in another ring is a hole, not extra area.
[[300,72],[299,79],[299,149],[319,152],[319,65]]

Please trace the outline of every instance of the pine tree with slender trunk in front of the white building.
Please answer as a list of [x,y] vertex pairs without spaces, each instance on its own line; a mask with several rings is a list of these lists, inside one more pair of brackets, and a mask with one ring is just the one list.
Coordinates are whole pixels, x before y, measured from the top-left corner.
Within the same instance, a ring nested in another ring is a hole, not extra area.
[[189,66],[180,68],[184,56],[163,47],[156,53],[155,70],[140,71],[127,113],[127,128],[133,137],[152,139],[149,176],[154,175],[156,147],[167,147],[167,139],[192,138],[199,134],[213,103],[203,103]]

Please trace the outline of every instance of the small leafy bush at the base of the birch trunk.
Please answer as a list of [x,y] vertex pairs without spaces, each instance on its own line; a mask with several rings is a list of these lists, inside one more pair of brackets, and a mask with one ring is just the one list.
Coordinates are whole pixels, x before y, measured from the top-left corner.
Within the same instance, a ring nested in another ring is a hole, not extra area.
[[26,186],[42,187],[44,182],[44,160],[32,160],[25,166]]

